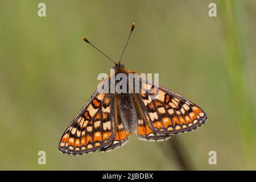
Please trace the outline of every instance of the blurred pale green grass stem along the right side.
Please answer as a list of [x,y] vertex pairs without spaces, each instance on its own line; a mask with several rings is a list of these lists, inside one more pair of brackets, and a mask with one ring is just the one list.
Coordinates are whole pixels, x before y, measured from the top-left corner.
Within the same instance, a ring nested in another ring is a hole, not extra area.
[[255,118],[253,104],[250,100],[245,77],[245,59],[242,44],[241,3],[235,0],[221,1],[223,8],[221,19],[224,24],[226,38],[226,69],[229,75],[230,94],[241,130],[243,147],[248,169],[255,169]]

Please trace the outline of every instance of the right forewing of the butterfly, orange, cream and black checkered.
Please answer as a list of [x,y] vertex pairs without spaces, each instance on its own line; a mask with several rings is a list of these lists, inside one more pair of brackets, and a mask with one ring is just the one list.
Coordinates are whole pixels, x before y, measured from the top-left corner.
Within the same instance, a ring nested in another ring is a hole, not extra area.
[[[159,88],[159,89],[156,89]],[[192,131],[207,121],[205,112],[193,102],[147,79],[142,83],[145,92],[137,94],[144,128],[160,135]],[[140,121],[139,121],[139,125]]]

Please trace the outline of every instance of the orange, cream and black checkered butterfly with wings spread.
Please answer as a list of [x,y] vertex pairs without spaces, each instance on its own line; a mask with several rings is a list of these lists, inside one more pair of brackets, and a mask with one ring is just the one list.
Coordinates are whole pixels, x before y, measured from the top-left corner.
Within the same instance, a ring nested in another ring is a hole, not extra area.
[[[134,27],[133,23],[125,48],[116,62],[82,37],[114,63],[114,73],[102,84],[110,83],[111,78],[120,73],[143,77],[121,64]],[[125,86],[129,88],[130,85],[125,82]],[[106,152],[123,146],[128,135],[137,135],[138,139],[146,141],[162,141],[171,135],[195,130],[207,121],[207,115],[199,106],[148,78],[141,79],[137,86],[140,88],[137,93],[109,93],[96,89],[64,131],[59,150],[71,155]]]

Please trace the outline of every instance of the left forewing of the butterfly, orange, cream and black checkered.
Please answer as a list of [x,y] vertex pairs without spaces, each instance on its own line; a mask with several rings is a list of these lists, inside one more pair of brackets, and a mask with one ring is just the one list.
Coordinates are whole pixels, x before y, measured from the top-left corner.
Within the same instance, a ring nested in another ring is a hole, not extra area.
[[80,155],[108,147],[115,138],[114,122],[112,95],[96,91],[65,130],[59,150]]

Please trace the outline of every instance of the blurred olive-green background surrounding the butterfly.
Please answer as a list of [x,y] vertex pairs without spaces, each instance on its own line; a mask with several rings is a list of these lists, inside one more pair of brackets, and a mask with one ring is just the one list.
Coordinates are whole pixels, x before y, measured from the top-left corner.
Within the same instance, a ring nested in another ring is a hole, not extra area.
[[[46,17],[38,3],[46,3]],[[209,17],[209,3],[217,17]],[[256,169],[256,1],[0,1],[0,169]],[[201,106],[208,122],[166,142],[135,136],[102,154],[61,154],[71,119],[113,67],[126,68]],[[46,165],[38,151],[46,151]],[[209,165],[209,151],[217,165]],[[176,152],[177,153],[177,152]]]

